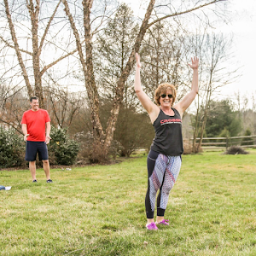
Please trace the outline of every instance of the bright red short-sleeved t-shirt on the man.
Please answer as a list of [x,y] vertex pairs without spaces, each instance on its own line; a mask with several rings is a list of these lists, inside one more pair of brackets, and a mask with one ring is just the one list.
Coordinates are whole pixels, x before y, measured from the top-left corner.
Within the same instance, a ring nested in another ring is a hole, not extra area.
[[21,124],[26,124],[27,141],[45,142],[45,123],[50,122],[49,113],[39,108],[38,111],[27,110],[23,113]]

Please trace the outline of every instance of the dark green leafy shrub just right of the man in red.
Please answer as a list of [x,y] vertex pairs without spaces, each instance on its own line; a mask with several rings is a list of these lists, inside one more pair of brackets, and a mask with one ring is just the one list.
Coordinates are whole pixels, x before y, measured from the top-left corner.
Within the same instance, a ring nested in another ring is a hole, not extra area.
[[51,127],[49,162],[55,165],[72,166],[79,154],[79,143],[67,135],[67,129]]

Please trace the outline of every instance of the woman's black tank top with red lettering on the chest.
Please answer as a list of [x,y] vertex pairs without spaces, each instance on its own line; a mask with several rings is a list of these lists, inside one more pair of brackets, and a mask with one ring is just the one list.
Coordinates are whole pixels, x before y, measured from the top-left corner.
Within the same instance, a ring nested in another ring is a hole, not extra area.
[[172,108],[174,116],[166,115],[161,109],[154,121],[155,137],[151,149],[166,155],[183,154],[182,119],[177,109]]

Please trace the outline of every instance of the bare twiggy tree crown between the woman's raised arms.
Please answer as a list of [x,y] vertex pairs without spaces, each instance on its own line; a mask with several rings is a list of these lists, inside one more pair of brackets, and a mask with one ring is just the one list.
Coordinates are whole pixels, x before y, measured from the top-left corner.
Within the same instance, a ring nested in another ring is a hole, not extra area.
[[184,73],[189,45],[188,34],[181,26],[166,20],[155,23],[148,29],[142,45],[143,73],[145,91],[154,100],[154,90],[164,82],[172,83],[180,90],[177,100],[183,96],[187,79]]

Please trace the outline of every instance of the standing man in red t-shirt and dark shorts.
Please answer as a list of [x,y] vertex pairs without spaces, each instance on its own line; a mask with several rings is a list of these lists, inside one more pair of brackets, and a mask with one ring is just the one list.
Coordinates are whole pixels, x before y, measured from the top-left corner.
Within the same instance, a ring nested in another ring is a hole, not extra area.
[[26,141],[26,157],[29,161],[29,170],[32,174],[33,183],[37,183],[36,178],[36,158],[43,161],[46,182],[52,183],[49,178],[49,157],[46,144],[49,143],[50,119],[49,113],[39,108],[38,97],[30,98],[31,109],[23,113],[21,128]]

